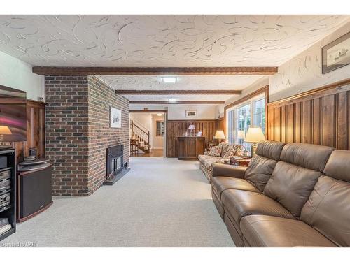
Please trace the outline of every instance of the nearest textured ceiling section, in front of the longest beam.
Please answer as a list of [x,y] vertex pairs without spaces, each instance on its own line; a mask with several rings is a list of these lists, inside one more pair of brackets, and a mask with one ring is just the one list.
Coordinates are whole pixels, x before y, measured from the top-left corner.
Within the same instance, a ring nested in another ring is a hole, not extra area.
[[0,50],[34,66],[279,66],[339,15],[0,15]]

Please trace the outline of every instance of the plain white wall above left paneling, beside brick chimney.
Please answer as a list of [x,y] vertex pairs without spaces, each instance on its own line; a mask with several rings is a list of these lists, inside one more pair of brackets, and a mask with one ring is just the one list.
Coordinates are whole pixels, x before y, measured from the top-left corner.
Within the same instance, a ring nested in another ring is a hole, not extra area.
[[44,97],[44,76],[31,72],[31,65],[0,52],[0,85],[27,92],[27,99]]

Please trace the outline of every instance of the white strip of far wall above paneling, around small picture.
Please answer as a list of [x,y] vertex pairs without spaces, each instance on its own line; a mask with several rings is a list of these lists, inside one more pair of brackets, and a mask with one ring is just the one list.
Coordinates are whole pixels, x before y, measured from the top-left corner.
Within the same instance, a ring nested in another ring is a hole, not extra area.
[[195,119],[217,119],[216,105],[169,105],[168,120],[191,120],[186,118],[186,110],[197,110]]

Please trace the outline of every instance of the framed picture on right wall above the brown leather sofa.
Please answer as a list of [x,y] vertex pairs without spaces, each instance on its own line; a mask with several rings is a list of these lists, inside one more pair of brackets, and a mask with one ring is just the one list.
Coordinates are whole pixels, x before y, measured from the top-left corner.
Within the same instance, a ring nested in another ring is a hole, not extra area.
[[322,48],[322,73],[350,64],[350,32]]

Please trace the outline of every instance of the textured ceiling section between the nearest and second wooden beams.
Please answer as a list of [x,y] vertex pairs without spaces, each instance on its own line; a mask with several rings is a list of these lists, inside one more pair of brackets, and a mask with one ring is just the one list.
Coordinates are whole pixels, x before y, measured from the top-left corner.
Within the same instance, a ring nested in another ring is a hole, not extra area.
[[97,75],[97,78],[116,90],[242,90],[263,77],[262,75],[180,75],[176,77],[176,83],[165,83],[157,75]]

